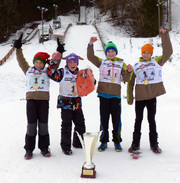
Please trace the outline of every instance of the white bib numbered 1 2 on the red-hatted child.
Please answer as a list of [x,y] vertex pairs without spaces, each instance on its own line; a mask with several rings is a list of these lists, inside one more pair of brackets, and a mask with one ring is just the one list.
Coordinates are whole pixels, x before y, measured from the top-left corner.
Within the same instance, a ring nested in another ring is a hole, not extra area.
[[35,67],[30,67],[26,72],[27,92],[34,91],[49,91],[49,78],[47,69],[37,70]]

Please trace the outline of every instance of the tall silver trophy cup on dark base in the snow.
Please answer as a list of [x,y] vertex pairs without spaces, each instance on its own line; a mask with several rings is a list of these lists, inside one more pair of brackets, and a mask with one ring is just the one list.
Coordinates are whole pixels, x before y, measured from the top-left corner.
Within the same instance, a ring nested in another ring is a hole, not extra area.
[[82,178],[96,178],[95,165],[92,162],[92,157],[93,157],[95,146],[100,134],[101,132],[84,133],[83,134],[84,140],[83,140],[82,137],[77,132],[77,135],[82,144],[84,153],[86,155],[86,162],[82,166],[82,173],[81,173]]

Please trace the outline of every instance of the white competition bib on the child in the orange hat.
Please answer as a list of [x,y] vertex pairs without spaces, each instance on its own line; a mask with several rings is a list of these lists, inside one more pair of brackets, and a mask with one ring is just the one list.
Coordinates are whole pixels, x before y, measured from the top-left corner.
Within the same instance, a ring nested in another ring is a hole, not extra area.
[[162,67],[153,59],[149,62],[138,62],[134,65],[136,84],[154,84],[162,82]]

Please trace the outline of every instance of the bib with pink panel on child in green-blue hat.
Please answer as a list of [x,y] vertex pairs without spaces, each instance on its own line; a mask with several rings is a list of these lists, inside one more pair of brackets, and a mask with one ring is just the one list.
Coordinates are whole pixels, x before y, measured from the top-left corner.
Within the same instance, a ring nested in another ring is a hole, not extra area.
[[123,62],[103,60],[99,68],[99,81],[106,83],[116,83],[121,85],[121,70]]

